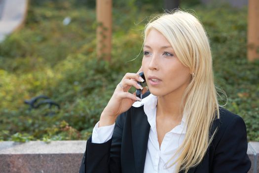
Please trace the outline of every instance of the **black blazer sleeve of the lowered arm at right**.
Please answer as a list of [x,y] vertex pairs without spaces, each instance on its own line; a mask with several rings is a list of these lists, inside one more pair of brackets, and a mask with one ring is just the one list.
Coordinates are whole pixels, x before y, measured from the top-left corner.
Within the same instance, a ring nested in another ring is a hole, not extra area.
[[246,125],[241,117],[236,116],[218,143],[212,170],[213,173],[247,173],[250,167]]

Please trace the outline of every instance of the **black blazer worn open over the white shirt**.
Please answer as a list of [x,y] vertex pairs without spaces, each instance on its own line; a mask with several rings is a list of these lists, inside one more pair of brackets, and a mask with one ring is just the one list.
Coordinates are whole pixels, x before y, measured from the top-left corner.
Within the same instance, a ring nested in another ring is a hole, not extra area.
[[[211,134],[218,131],[202,162],[188,173],[247,173],[246,125],[241,117],[220,108]],[[87,140],[79,173],[143,173],[150,125],[143,106],[119,115],[112,138],[101,144]],[[181,172],[184,173],[184,172]]]

